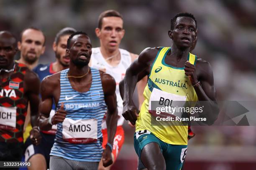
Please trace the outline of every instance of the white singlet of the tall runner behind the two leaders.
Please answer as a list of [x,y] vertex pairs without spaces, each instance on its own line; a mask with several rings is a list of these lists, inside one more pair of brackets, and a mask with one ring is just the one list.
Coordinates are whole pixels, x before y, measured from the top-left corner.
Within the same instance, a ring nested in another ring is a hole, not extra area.
[[[91,55],[91,67],[97,68],[97,69],[105,69],[106,73],[111,75],[115,78],[116,82],[116,99],[118,104],[118,126],[123,125],[124,118],[122,116],[123,112],[123,100],[120,96],[119,92],[119,82],[123,80],[125,77],[125,72],[127,68],[131,65],[131,55],[130,52],[127,50],[119,49],[120,51],[120,62],[116,66],[112,66],[108,64],[108,62],[105,60],[105,58],[102,56],[102,53],[100,51],[100,47],[92,48],[92,55]],[[106,129],[106,121],[102,121],[102,129]]]

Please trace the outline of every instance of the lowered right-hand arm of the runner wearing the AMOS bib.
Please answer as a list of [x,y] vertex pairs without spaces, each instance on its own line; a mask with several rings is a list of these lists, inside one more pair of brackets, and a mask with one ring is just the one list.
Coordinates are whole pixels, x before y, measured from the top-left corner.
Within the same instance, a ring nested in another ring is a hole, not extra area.
[[[116,102],[116,95],[115,95],[115,79],[106,74],[101,72],[102,77],[102,88],[104,91],[105,103],[108,107],[107,110],[107,117],[106,117],[106,124],[108,130],[108,143],[113,146],[113,141],[116,132],[116,126],[118,122],[118,110],[117,110],[117,102]],[[102,161],[103,166],[107,167],[113,163],[111,150],[108,145],[106,145],[106,149],[102,153]]]

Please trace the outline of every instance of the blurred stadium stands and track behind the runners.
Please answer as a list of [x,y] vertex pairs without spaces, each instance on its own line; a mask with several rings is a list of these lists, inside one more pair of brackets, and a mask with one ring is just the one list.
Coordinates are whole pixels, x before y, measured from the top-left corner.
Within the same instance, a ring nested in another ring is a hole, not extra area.
[[[255,0],[1,0],[0,30],[17,37],[29,26],[43,30],[46,52],[40,63],[55,60],[52,43],[64,27],[87,32],[93,47],[97,19],[104,10],[124,19],[121,48],[139,54],[146,47],[170,46],[170,20],[176,13],[195,15],[198,42],[192,52],[210,62],[218,100],[256,103]],[[17,55],[16,59],[19,58]],[[250,114],[256,114],[251,108]],[[125,127],[125,144],[113,170],[135,170],[134,128]],[[256,126],[192,127],[185,170],[256,170]]]

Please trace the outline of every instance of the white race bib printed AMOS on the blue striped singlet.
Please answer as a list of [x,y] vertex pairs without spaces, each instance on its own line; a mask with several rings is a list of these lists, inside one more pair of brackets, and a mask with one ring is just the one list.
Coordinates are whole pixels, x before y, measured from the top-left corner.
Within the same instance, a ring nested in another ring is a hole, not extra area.
[[63,140],[74,144],[97,142],[98,123],[96,119],[72,120],[65,118],[62,123]]

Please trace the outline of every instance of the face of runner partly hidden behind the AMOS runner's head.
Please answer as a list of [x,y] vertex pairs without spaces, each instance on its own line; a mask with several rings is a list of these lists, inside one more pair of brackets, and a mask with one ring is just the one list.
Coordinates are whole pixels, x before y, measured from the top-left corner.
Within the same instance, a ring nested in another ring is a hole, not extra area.
[[66,55],[66,49],[67,49],[67,40],[70,35],[63,35],[59,37],[59,42],[56,44],[54,42],[53,49],[56,55],[57,60],[61,65],[64,67],[69,66],[70,58]]

